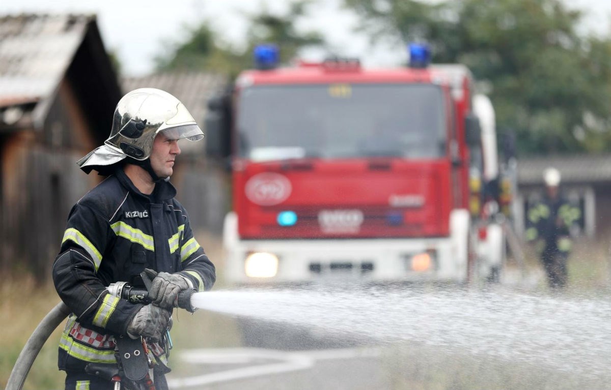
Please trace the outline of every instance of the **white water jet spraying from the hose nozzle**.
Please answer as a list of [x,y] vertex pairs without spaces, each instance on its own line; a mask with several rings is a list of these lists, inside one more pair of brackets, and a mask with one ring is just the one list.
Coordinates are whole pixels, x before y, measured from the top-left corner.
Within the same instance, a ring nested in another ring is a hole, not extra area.
[[[611,303],[511,291],[243,289],[194,295],[200,309],[307,327],[329,338],[414,341],[610,378]],[[335,335],[335,336],[334,336]]]

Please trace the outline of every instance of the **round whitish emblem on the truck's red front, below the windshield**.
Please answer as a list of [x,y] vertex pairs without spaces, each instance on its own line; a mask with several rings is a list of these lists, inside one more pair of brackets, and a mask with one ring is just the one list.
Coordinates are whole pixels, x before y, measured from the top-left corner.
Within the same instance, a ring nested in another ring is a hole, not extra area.
[[279,173],[265,172],[246,182],[246,197],[260,206],[274,206],[291,195],[291,182]]

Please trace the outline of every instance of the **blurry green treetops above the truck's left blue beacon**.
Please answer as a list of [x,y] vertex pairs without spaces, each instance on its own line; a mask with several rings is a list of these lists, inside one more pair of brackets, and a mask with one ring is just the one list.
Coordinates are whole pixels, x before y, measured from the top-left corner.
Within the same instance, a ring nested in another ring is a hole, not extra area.
[[[276,43],[280,48],[280,60],[287,62],[304,46],[323,45],[317,32],[296,31],[295,23],[306,15],[309,1],[291,2],[286,15],[274,15],[266,9],[247,15],[249,29],[245,48],[238,49],[222,42],[219,32],[213,31],[210,22],[186,27],[185,42],[165,46],[170,48],[155,58],[159,71],[211,71],[233,78],[240,71],[252,68],[252,49],[260,43]],[[173,47],[174,46],[174,47]]]

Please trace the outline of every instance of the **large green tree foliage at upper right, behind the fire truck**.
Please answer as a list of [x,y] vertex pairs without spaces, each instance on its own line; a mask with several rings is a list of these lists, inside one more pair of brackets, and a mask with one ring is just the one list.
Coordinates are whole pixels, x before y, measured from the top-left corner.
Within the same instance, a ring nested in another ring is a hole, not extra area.
[[611,146],[611,38],[582,36],[560,0],[345,0],[372,37],[425,40],[469,67],[522,154]]

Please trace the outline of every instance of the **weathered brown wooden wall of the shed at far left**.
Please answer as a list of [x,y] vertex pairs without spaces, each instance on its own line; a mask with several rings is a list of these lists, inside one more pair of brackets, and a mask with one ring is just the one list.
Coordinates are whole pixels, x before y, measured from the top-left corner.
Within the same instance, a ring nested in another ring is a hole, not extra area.
[[47,150],[21,133],[3,151],[2,261],[48,280],[71,206],[90,180],[75,153]]

